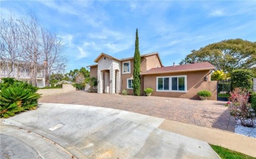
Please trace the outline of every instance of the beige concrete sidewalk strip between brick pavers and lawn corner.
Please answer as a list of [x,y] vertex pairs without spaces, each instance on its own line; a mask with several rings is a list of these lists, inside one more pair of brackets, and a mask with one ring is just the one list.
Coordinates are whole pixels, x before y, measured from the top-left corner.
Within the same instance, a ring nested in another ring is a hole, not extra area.
[[256,157],[256,139],[253,137],[171,120],[164,120],[158,128]]

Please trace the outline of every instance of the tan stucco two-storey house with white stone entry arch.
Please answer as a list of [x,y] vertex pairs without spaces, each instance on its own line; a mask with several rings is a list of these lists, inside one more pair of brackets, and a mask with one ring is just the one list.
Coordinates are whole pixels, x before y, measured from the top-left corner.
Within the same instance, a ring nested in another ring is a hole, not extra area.
[[[163,67],[158,53],[140,56],[140,95],[144,88],[153,88],[152,96],[198,98],[199,90],[212,92],[217,97],[217,82],[211,81],[211,63],[191,63]],[[98,79],[98,93],[120,94],[127,89],[133,94],[133,58],[117,59],[107,54],[96,58],[96,65],[89,65],[90,76]]]

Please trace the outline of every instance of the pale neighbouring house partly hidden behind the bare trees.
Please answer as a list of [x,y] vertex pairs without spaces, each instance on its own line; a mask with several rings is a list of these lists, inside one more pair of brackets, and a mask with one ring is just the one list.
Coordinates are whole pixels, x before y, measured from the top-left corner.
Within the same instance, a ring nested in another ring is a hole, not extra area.
[[[30,80],[30,67],[24,62],[16,62],[13,65],[11,62],[0,60],[0,80],[5,77],[12,77],[17,80],[29,81]],[[45,76],[43,68],[37,69],[37,86],[45,87]]]

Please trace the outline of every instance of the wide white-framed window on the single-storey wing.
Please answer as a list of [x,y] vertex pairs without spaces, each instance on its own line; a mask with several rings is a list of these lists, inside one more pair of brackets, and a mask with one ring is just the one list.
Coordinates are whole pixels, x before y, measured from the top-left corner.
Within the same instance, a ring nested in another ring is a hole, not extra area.
[[186,75],[156,77],[156,91],[159,92],[186,92]]

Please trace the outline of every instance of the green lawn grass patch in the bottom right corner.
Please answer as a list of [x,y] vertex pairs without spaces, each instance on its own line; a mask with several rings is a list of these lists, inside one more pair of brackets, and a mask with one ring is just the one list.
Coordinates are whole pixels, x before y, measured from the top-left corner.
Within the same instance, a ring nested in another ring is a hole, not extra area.
[[246,154],[242,154],[240,152],[236,152],[234,150],[229,150],[229,149],[226,149],[224,147],[220,147],[220,146],[217,146],[217,145],[211,145],[211,148],[213,148],[213,150],[215,150],[215,152],[217,154],[219,154],[219,156],[221,158],[224,158],[224,159],[231,159],[231,158],[235,158],[235,159],[255,159],[254,157],[252,156],[248,156]]

